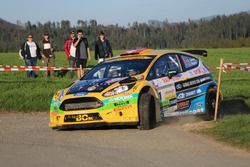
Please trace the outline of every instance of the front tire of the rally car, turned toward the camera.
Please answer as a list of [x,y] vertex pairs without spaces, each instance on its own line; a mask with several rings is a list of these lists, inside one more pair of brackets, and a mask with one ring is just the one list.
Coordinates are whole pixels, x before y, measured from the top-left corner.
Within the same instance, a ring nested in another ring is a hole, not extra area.
[[143,93],[139,99],[139,129],[149,130],[155,127],[154,98],[149,93]]

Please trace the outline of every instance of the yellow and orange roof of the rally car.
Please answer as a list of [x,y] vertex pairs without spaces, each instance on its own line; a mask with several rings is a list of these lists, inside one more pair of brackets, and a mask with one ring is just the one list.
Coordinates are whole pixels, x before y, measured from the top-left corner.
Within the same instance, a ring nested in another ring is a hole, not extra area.
[[107,59],[106,62],[134,60],[134,59],[153,59],[154,57],[162,56],[168,53],[183,53],[183,54],[185,53],[187,55],[193,56],[192,54],[177,50],[138,49],[138,50],[130,50],[123,52],[119,56]]

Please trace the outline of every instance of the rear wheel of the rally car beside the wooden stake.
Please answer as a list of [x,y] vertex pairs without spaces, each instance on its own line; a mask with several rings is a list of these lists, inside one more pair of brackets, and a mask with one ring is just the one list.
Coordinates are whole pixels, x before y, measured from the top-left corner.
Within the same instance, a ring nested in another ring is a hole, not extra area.
[[[215,105],[216,105],[216,90],[214,88],[209,88],[207,90],[205,104],[206,104],[205,120],[207,121],[213,120],[215,114]],[[220,113],[220,99],[219,99],[217,118],[219,118],[218,117],[219,113]]]

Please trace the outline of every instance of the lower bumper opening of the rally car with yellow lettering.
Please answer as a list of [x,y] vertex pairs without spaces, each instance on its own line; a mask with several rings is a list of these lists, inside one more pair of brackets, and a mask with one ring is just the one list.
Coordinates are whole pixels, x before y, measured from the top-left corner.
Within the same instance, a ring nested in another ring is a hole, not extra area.
[[65,115],[64,122],[86,122],[102,120],[99,113]]

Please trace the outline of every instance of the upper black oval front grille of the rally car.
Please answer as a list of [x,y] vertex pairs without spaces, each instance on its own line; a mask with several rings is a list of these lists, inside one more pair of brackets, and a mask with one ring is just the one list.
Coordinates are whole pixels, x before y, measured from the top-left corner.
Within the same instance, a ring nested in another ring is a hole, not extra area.
[[64,100],[60,106],[63,111],[96,109],[103,103],[95,97],[81,97]]

